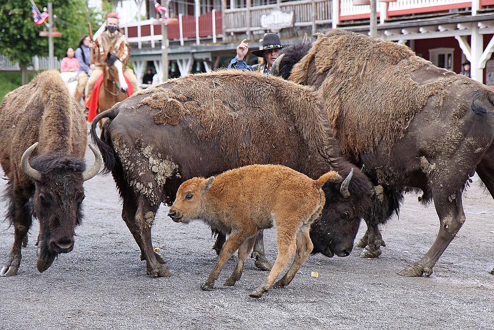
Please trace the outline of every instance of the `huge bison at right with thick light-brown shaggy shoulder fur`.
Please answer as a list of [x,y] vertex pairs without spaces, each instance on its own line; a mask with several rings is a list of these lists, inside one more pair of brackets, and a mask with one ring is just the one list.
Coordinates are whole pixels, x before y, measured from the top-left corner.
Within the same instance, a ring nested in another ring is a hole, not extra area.
[[400,272],[431,275],[465,221],[469,177],[476,171],[494,195],[494,92],[409,47],[340,30],[318,34],[310,48],[290,47],[275,71],[319,89],[342,154],[365,165],[375,185],[363,256],[381,253],[377,225],[398,213],[403,192],[421,190],[422,203],[434,201],[436,241]]

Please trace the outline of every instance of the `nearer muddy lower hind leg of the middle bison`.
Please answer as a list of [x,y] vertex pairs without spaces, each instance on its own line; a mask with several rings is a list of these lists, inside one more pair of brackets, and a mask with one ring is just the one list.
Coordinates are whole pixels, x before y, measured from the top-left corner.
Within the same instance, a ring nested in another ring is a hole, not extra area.
[[151,206],[147,199],[140,196],[138,197],[134,221],[137,228],[140,229],[141,252],[146,259],[146,273],[155,277],[170,277],[172,275],[171,272],[156,257],[151,241],[151,227],[155,219],[156,210],[157,207]]

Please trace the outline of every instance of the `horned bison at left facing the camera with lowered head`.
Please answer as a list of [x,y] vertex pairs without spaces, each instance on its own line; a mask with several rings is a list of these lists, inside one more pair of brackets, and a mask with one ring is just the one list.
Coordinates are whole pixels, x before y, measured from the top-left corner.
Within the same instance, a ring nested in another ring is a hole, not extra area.
[[[82,218],[82,182],[95,176],[102,163],[91,147],[96,161],[85,169],[86,130],[81,109],[57,71],[39,74],[3,99],[0,163],[8,179],[7,219],[14,226],[14,244],[1,276],[17,274],[32,215],[40,222],[40,272],[57,254],[74,247],[74,229]],[[36,156],[30,165],[32,153]]]

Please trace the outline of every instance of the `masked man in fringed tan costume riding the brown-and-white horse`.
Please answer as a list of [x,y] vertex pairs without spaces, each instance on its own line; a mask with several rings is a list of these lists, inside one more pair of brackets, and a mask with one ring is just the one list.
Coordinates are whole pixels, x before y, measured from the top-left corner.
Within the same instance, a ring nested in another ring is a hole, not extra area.
[[[119,16],[116,13],[108,14],[106,16],[106,31],[101,33],[95,40],[94,58],[96,67],[87,80],[85,89],[86,100],[91,97],[94,89],[94,84],[103,73],[103,66],[109,52],[117,55],[120,61],[124,64],[124,75],[130,82],[133,92],[139,90],[139,87],[137,85],[137,78],[134,75],[134,71],[127,67],[127,63],[129,60],[127,37],[125,37],[125,35],[118,30],[118,25]],[[95,97],[97,97],[97,95]]]

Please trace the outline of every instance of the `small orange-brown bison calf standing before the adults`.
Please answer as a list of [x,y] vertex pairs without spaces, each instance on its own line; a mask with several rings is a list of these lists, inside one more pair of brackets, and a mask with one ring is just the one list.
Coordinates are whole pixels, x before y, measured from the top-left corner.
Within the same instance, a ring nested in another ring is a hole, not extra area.
[[273,224],[278,257],[264,283],[249,295],[259,298],[269,290],[296,252],[287,274],[275,287],[288,285],[312,251],[310,226],[321,214],[326,200],[321,187],[335,179],[340,176],[334,171],[312,180],[282,165],[249,165],[226,171],[216,178],[195,177],[180,185],[168,216],[182,223],[201,219],[230,235],[202,288],[212,289],[223,265],[238,249],[237,267],[224,283],[235,285],[242,276],[257,234]]

